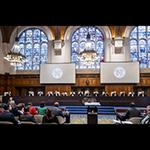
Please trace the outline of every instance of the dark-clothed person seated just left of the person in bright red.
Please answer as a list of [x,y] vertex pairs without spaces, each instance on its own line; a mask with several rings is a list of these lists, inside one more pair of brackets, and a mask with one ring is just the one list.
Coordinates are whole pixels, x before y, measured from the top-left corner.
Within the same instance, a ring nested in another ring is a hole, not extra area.
[[28,107],[24,108],[24,114],[19,116],[19,121],[29,121],[29,122],[33,122],[36,123],[36,120],[34,118],[34,116],[32,114],[30,114],[30,112],[28,111]]

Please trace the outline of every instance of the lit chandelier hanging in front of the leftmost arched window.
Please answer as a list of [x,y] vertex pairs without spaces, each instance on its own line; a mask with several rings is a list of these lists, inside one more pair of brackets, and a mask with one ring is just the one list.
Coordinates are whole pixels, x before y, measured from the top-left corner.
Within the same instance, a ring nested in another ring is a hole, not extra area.
[[17,29],[17,36],[15,38],[15,43],[14,43],[13,47],[11,48],[11,50],[4,57],[4,59],[9,61],[10,65],[13,65],[13,66],[23,63],[26,59],[26,57],[20,53],[18,29]]

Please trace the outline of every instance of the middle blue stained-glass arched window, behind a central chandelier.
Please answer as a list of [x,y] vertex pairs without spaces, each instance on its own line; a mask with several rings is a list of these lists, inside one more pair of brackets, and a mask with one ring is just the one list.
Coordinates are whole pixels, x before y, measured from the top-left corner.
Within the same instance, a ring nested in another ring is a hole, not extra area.
[[[80,59],[80,53],[85,49],[87,34],[90,34],[92,49],[97,52],[97,60],[92,64],[86,64]],[[100,68],[100,62],[104,61],[104,36],[99,28],[94,26],[79,27],[71,38],[71,61],[76,64],[77,69],[96,69]]]

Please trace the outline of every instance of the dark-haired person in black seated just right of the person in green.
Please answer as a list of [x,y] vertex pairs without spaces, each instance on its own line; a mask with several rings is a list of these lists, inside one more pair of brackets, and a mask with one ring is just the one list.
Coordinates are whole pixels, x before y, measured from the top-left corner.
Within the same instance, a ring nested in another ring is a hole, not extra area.
[[52,110],[48,108],[46,114],[43,116],[42,123],[56,123],[59,124],[59,121],[56,116],[52,115]]

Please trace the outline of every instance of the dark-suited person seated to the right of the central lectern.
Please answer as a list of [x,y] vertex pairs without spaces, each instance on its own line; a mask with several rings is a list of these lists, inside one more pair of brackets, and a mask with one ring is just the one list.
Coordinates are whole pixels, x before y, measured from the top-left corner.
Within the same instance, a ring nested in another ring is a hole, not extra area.
[[123,115],[116,113],[116,117],[117,119],[120,119],[121,121],[125,121],[132,117],[141,117],[141,112],[139,109],[135,107],[135,103],[131,102],[130,108],[127,110],[126,114],[123,116]]

